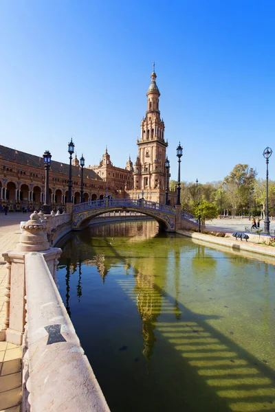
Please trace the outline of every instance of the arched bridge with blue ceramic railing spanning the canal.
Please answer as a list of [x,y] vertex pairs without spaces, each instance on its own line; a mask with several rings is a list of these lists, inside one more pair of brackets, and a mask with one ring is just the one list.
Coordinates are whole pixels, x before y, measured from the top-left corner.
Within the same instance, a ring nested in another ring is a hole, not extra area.
[[194,229],[198,223],[192,214],[181,211],[180,205],[173,207],[144,199],[105,198],[104,200],[74,205],[72,209],[72,230],[83,229],[92,218],[111,211],[137,211],[154,218],[167,231]]

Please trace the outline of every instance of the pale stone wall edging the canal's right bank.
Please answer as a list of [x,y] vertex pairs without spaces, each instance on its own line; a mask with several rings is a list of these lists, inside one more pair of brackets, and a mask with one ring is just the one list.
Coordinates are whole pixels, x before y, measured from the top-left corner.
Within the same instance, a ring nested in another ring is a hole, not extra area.
[[256,244],[252,242],[245,242],[245,240],[235,240],[235,238],[232,237],[232,233],[228,233],[228,236],[230,236],[230,238],[219,238],[218,236],[205,235],[203,233],[196,233],[184,230],[177,230],[176,233],[191,238],[192,240],[201,240],[208,244],[219,244],[221,246],[230,248],[233,251],[248,251],[275,258],[275,247],[266,246],[264,244]]

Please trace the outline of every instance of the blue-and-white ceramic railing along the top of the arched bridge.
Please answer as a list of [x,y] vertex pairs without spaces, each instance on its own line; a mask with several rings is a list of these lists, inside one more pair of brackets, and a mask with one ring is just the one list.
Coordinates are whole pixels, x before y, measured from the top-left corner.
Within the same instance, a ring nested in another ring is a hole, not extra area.
[[109,207],[140,207],[142,209],[153,209],[164,211],[164,213],[175,215],[175,207],[162,205],[162,203],[145,201],[144,199],[103,199],[74,205],[73,213],[80,211],[109,208]]

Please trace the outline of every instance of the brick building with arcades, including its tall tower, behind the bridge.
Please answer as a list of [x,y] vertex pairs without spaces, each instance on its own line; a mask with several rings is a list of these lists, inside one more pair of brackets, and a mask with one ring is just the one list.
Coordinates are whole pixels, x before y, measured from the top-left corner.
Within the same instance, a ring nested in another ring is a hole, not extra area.
[[[83,170],[83,201],[94,201],[105,196],[112,198],[145,198],[165,203],[166,148],[164,121],[159,112],[159,89],[155,67],[146,93],[147,110],[142,119],[138,155],[133,165],[131,157],[125,168],[111,162],[107,148],[99,165]],[[69,164],[51,162],[50,204],[54,209],[64,208],[68,199]],[[80,203],[81,168],[77,156],[72,161],[72,202]],[[176,194],[169,192],[169,204],[175,205]],[[0,208],[8,205],[10,211],[41,209],[45,201],[45,170],[43,157],[20,152],[0,145]]]

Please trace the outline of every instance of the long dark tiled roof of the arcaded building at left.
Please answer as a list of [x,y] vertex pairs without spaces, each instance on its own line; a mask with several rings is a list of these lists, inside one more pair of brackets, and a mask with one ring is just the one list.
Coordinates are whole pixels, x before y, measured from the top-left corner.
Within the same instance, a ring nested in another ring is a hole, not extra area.
[[[44,166],[43,157],[30,155],[30,153],[20,152],[20,150],[15,150],[7,148],[6,146],[0,145],[0,155],[1,158],[6,161],[17,161],[17,164],[24,165],[26,167],[32,166],[33,168],[41,169],[41,165]],[[43,168],[44,169],[44,168]],[[69,176],[69,165],[67,163],[61,163],[59,161],[51,161],[52,172],[62,173]],[[72,177],[77,177],[80,175],[80,167],[72,165]],[[83,170],[83,176],[89,179],[97,179],[102,181],[102,178],[98,176],[94,170],[85,169]]]

